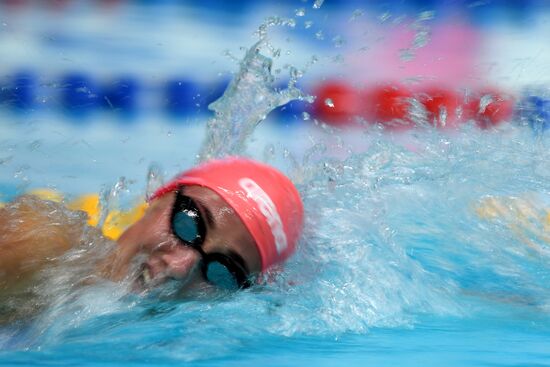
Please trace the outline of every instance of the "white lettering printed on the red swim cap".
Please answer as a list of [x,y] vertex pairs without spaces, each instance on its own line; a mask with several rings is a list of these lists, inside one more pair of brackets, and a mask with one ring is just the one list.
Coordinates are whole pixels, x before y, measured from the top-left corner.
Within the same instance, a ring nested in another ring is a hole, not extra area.
[[258,204],[260,212],[265,216],[271,228],[271,233],[275,239],[277,254],[281,254],[281,252],[286,250],[287,240],[283,230],[283,222],[281,221],[281,216],[277,212],[275,204],[269,195],[267,195],[267,193],[252,179],[248,177],[241,178],[239,180],[239,185],[246,191],[247,196]]

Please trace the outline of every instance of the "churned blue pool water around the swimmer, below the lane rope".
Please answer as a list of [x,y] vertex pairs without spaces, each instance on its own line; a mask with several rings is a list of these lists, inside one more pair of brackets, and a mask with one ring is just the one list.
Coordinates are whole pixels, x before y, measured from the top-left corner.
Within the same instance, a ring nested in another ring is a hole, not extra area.
[[[50,126],[5,127],[6,196],[37,182],[77,195],[119,175],[138,195],[150,160],[167,175],[192,165],[198,147],[180,142],[203,132],[138,124],[119,150],[108,128]],[[0,365],[549,365],[548,145],[513,125],[392,135],[268,122],[249,153],[298,183],[307,212],[284,272],[179,301],[114,284],[61,292],[37,320],[0,331]],[[43,168],[49,159],[59,166]],[[506,202],[481,218],[488,197],[524,199],[533,214],[522,222]]]

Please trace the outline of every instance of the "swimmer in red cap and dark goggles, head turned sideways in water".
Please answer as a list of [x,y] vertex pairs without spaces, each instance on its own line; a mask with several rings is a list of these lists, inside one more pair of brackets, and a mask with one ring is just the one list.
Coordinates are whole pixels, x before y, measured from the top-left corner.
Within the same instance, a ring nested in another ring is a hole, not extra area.
[[[28,287],[84,231],[97,230],[54,204],[19,198],[0,208],[0,295]],[[174,279],[185,289],[247,288],[294,252],[302,222],[298,191],[279,171],[243,158],[210,161],[157,190],[97,274],[143,290]]]

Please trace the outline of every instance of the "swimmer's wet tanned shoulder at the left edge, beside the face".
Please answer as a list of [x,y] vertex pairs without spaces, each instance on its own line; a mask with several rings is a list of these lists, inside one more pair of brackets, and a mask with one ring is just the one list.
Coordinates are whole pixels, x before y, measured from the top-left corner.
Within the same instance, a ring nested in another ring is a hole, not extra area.
[[85,214],[35,195],[0,207],[0,324],[39,312],[41,271],[81,243],[86,221]]

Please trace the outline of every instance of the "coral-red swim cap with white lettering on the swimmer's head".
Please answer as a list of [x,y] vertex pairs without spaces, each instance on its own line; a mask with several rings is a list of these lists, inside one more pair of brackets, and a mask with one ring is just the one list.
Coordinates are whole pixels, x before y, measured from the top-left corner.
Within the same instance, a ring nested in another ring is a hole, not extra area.
[[180,185],[207,187],[233,208],[256,241],[263,271],[296,249],[304,208],[296,187],[273,167],[245,158],[212,160],[183,172],[151,200]]

